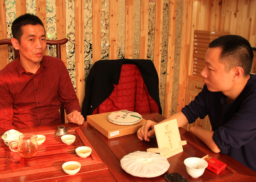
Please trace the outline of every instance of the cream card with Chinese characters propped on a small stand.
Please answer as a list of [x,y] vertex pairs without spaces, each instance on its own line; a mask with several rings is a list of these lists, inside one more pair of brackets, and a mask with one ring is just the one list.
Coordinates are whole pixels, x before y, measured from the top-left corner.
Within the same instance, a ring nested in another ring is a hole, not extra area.
[[187,141],[181,141],[176,119],[156,124],[154,128],[158,148],[149,148],[147,151],[160,153],[166,158],[183,151],[182,145],[186,145]]

